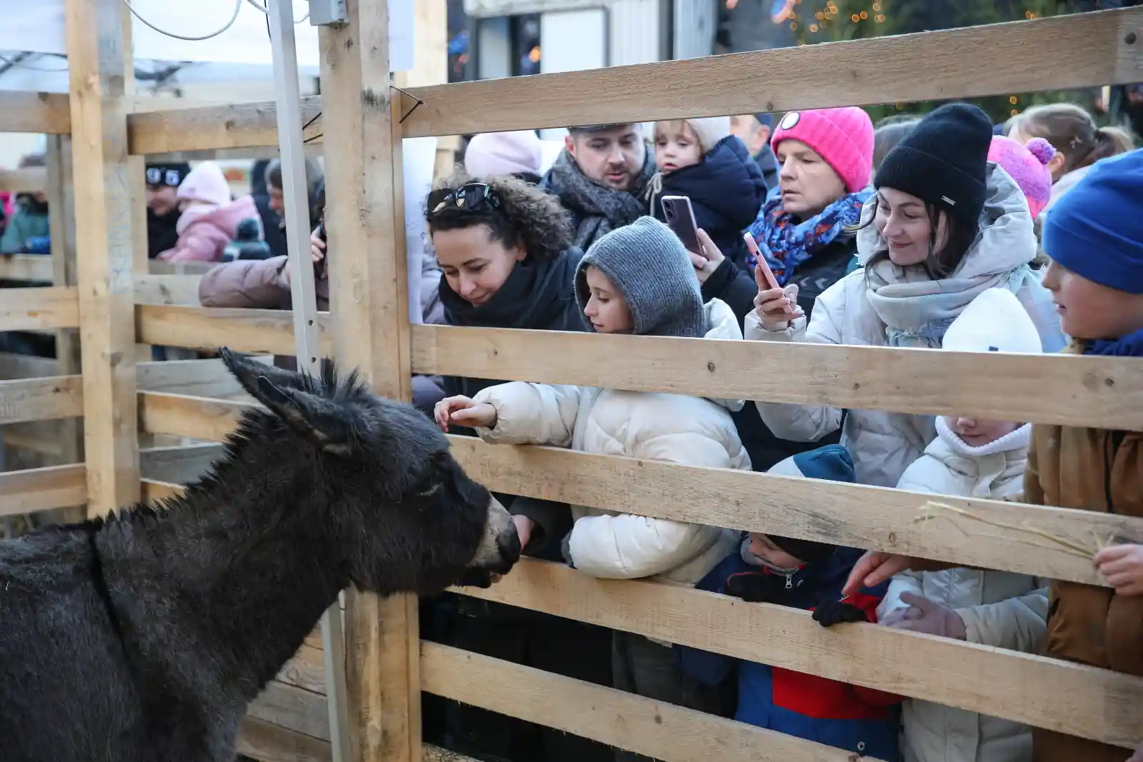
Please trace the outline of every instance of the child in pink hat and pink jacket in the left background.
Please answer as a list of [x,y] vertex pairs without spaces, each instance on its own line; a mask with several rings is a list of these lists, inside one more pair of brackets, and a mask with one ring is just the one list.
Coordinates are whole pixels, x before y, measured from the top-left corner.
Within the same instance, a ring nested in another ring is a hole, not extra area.
[[159,255],[167,262],[219,262],[226,244],[238,234],[243,219],[262,223],[254,198],[243,195],[231,200],[230,184],[222,169],[213,161],[203,161],[178,186],[178,242],[175,248]]

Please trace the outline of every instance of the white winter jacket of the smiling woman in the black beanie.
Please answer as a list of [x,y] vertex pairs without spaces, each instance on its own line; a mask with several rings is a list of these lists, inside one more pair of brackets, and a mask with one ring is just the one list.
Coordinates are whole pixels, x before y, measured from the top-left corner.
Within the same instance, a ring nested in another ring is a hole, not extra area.
[[[1032,217],[1023,191],[1002,169],[990,165],[989,196],[981,232],[958,268],[958,274],[992,272],[998,260],[1016,268],[1036,256]],[[872,225],[857,236],[858,255],[865,262],[884,242]],[[1038,276],[1016,292],[1044,340],[1046,352],[1063,346],[1060,321],[1050,295]],[[813,320],[794,320],[782,331],[768,331],[758,313],[745,319],[748,340],[809,342],[886,346],[885,324],[866,298],[865,271],[857,270],[828,288],[814,303]],[[841,426],[841,409],[758,401],[762,422],[775,435],[796,442],[816,442]],[[853,455],[857,481],[862,484],[895,487],[905,467],[920,457],[936,436],[933,416],[884,410],[850,410],[841,432],[841,444]]]

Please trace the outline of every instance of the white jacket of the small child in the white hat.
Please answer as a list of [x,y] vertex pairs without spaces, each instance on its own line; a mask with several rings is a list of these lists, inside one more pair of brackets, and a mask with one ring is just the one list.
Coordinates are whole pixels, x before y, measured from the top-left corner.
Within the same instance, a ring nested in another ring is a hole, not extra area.
[[[1005,499],[1023,490],[1031,425],[973,448],[937,418],[940,436],[905,470],[900,487],[919,492]],[[1047,627],[1047,581],[1009,571],[949,569],[906,572],[889,583],[878,618],[916,593],[948,605],[965,620],[966,640],[1014,651],[1036,651]],[[903,705],[906,762],[1029,762],[1026,725],[910,699]]]

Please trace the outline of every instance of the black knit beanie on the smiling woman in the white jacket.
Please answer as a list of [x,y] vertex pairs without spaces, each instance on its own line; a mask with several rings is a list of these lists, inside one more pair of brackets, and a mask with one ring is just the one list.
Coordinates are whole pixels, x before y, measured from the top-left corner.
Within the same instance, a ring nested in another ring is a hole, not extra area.
[[881,162],[873,186],[944,209],[967,225],[984,211],[992,122],[968,103],[949,103],[917,122]]

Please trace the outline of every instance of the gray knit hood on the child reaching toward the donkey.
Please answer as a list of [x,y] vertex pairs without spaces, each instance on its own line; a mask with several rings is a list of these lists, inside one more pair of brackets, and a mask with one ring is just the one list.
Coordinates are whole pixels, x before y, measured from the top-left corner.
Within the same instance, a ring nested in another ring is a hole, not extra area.
[[[654,217],[640,217],[591,244],[575,271],[575,296],[583,315],[591,296],[585,270],[594,265],[631,310],[637,336],[702,338],[706,314],[702,291],[682,241]],[[594,331],[584,315],[589,331]]]

